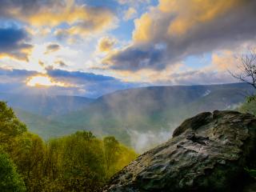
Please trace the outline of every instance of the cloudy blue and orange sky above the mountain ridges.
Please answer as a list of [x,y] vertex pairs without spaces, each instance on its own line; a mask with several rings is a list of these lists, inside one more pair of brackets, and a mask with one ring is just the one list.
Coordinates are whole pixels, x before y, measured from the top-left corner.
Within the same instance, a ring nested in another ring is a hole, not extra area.
[[0,0],[0,92],[97,98],[236,82],[254,0]]

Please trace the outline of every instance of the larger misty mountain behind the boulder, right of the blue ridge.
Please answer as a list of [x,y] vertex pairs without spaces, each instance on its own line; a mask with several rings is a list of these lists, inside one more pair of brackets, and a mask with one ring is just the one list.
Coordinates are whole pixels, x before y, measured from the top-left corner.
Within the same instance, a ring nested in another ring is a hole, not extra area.
[[68,127],[114,135],[137,150],[145,150],[145,146],[170,138],[184,119],[202,111],[234,109],[253,91],[244,83],[119,90],[83,110],[54,119]]

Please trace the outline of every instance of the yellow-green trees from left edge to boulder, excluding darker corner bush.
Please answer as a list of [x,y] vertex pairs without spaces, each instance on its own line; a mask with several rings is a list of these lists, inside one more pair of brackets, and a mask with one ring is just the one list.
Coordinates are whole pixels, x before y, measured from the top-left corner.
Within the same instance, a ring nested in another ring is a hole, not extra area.
[[[102,140],[86,131],[43,142],[38,135],[26,131],[26,126],[5,102],[0,102],[0,137],[0,147],[9,154],[27,191],[31,192],[101,191],[114,173],[136,158],[133,150],[122,146],[114,137]],[[1,180],[1,185],[19,183],[21,187],[4,191],[24,191],[12,162],[5,157],[0,166],[10,176],[9,180]],[[6,174],[1,167],[2,173]]]

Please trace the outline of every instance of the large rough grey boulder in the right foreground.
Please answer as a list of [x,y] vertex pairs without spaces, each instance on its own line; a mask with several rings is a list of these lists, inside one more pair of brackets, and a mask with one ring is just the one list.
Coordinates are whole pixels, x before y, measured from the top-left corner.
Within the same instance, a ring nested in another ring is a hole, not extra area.
[[118,172],[107,192],[242,191],[256,162],[256,118],[214,111],[186,119],[173,138]]

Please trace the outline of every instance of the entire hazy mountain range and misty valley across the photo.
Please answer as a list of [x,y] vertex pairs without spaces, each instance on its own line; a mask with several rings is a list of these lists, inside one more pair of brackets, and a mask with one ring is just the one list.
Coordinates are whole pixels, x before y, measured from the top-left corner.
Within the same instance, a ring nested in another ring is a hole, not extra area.
[[114,135],[139,152],[170,138],[186,118],[239,106],[253,88],[244,83],[211,86],[150,86],[119,90],[97,99],[0,94],[30,131],[43,138],[76,130]]

